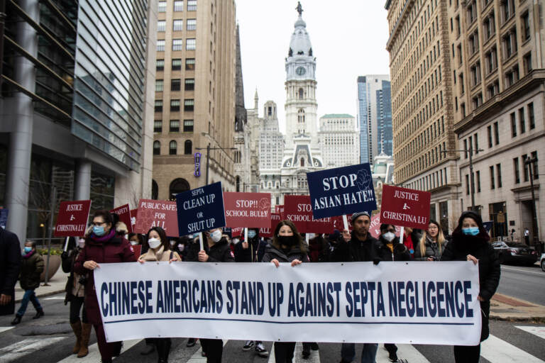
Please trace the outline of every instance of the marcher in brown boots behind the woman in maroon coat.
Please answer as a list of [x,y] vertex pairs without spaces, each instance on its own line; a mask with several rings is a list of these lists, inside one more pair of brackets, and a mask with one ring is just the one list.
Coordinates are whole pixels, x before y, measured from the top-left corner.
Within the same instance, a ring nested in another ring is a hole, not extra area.
[[[85,239],[79,238],[77,245],[72,242],[72,248],[68,252],[62,252],[62,271],[70,272],[65,286],[65,305],[70,303],[70,326],[76,335],[76,344],[72,349],[72,354],[77,354],[78,358],[89,354],[89,336],[91,335],[92,325],[87,320],[87,313],[84,307],[85,282],[87,274],[79,275],[74,272],[74,264],[77,255],[85,247]],[[83,283],[83,284],[82,284]],[[79,318],[79,311],[82,311],[82,318]]]

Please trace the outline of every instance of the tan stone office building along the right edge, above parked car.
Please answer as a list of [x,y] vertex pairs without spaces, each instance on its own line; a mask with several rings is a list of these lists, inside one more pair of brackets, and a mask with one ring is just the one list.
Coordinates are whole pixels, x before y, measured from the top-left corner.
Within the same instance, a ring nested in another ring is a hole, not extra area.
[[[462,208],[492,220],[492,237],[514,230],[523,240],[528,228],[532,245],[538,233],[545,239],[538,222],[545,203],[532,200],[530,180],[532,174],[535,186],[545,170],[544,6],[542,0],[452,1],[445,28],[456,148],[473,152],[473,178],[469,152],[458,162]],[[534,188],[534,198],[545,200],[545,190]]]

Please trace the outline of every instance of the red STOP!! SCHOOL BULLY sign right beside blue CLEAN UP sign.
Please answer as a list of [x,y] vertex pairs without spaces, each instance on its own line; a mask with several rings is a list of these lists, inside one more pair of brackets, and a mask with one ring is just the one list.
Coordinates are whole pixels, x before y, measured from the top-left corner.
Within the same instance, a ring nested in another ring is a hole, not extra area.
[[224,192],[227,227],[270,228],[270,193]]

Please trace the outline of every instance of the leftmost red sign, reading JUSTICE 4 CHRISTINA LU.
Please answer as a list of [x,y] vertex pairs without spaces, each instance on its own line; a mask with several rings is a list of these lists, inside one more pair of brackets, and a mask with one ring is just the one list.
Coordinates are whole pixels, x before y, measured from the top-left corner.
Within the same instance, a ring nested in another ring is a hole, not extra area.
[[62,201],[59,206],[55,237],[77,237],[85,234],[91,201]]

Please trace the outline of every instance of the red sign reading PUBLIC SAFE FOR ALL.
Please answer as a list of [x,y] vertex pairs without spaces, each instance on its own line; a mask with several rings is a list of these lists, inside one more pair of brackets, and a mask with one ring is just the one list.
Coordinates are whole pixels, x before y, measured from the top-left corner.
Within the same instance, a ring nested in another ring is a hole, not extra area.
[[138,201],[136,216],[136,233],[148,233],[150,228],[163,228],[168,237],[178,237],[178,215],[175,201],[154,201],[141,199]]

